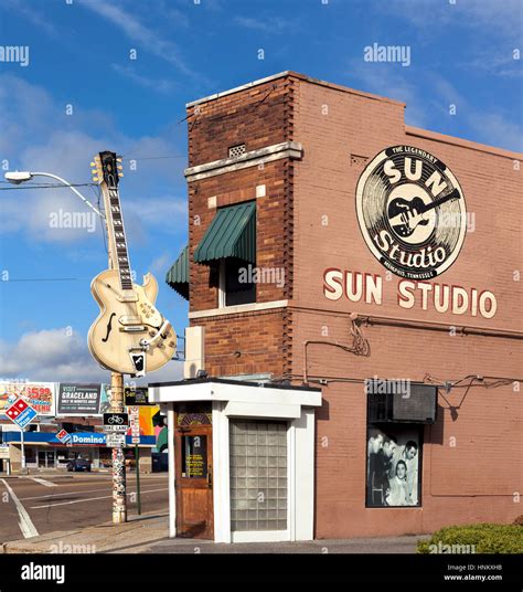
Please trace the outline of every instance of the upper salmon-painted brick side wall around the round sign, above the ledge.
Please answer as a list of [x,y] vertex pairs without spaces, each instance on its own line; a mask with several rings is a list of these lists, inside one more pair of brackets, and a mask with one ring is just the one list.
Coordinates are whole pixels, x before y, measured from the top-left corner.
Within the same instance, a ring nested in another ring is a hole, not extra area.
[[[295,136],[303,144],[305,157],[295,169],[295,244],[299,245],[293,262],[295,303],[338,311],[351,311],[352,307],[363,315],[521,330],[517,310],[522,282],[514,282],[513,276],[521,268],[522,253],[523,187],[521,170],[514,168],[517,155],[500,156],[480,151],[480,145],[471,149],[467,142],[452,145],[414,136],[405,130],[402,105],[387,99],[371,99],[306,82],[300,82],[296,96]],[[324,105],[328,115],[322,115]],[[467,211],[474,214],[476,230],[467,232],[457,261],[436,282],[494,292],[499,308],[493,318],[398,307],[399,278],[392,276],[386,282],[386,269],[362,239],[355,190],[366,162],[351,163],[351,155],[371,160],[384,148],[402,144],[431,152],[459,180]],[[322,216],[327,216],[328,225],[322,224]],[[383,305],[327,299],[322,275],[329,267],[383,276]]]

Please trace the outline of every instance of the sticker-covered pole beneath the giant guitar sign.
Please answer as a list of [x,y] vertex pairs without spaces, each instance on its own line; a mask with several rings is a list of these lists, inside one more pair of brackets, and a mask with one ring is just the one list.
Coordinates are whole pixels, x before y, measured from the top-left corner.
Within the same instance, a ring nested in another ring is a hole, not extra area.
[[[110,255],[109,255],[110,266]],[[124,377],[110,373],[110,411],[124,413]],[[126,462],[122,448],[113,448],[113,524],[127,522]]]

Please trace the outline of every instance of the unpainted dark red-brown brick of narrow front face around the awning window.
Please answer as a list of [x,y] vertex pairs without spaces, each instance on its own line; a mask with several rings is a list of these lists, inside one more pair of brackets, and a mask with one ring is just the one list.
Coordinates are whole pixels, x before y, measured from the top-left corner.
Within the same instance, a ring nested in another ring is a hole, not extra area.
[[[292,84],[280,78],[237,94],[190,107],[190,166],[228,157],[227,149],[246,144],[257,150],[292,139]],[[198,109],[198,113],[194,113]],[[269,303],[289,297],[291,283],[291,198],[292,169],[289,159],[267,162],[189,183],[190,310],[217,307],[217,274],[212,266],[193,263],[200,241],[216,214],[216,207],[256,201],[256,266],[282,268],[287,282],[256,285],[256,302]],[[256,198],[256,187],[265,184],[265,197]],[[282,310],[192,319],[204,326],[206,369],[210,374],[288,371],[287,314]],[[241,357],[232,357],[239,351]],[[248,352],[248,353],[246,353]]]

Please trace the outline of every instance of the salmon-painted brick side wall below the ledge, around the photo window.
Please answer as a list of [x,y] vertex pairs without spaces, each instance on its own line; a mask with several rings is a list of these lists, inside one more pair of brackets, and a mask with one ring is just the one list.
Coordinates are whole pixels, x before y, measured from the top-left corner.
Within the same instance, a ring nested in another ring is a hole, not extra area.
[[[303,371],[302,348],[298,343],[306,339],[350,342],[346,316],[295,311],[292,318],[292,362],[297,376]],[[521,374],[514,360],[521,360],[522,348],[513,339],[497,345],[491,338],[450,337],[427,329],[374,326],[362,330],[371,345],[370,357],[311,345],[309,376],[423,381],[426,374],[439,380],[478,372]],[[447,401],[439,397],[438,421],[425,429],[423,508],[407,510],[365,509],[363,383],[333,381],[323,387],[322,394],[323,405],[317,411],[318,538],[429,532],[448,524],[511,521],[522,514],[521,504],[513,498],[523,485],[519,468],[523,461],[521,392],[511,385],[485,389],[476,383],[468,392],[466,388],[456,388],[445,395]],[[460,402],[458,416],[452,421],[449,403]],[[333,475],[343,477],[332,478]]]

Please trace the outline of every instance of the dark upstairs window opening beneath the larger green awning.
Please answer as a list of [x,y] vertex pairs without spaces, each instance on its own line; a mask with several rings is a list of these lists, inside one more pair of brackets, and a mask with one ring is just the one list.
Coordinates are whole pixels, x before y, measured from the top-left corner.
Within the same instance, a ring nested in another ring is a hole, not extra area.
[[256,284],[253,279],[253,265],[237,258],[220,262],[218,306],[237,306],[256,302]]

